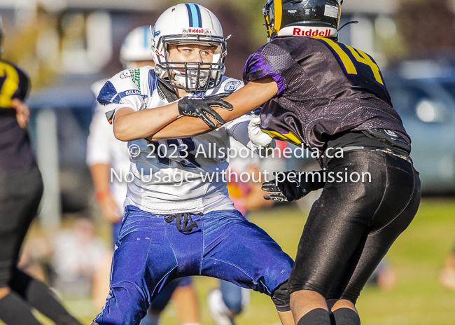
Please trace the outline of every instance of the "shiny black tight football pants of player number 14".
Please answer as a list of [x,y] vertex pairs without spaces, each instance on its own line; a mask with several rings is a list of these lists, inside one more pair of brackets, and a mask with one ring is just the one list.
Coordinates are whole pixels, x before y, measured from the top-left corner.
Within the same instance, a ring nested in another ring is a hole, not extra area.
[[356,303],[419,208],[419,174],[396,155],[361,149],[330,160],[327,171],[334,179],[311,207],[288,290]]

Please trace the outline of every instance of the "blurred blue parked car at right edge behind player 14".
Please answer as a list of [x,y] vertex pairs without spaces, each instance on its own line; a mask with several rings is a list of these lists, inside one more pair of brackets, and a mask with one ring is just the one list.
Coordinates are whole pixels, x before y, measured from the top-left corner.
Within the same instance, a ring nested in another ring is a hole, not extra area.
[[422,192],[455,193],[455,64],[405,60],[383,72],[393,106],[412,139]]

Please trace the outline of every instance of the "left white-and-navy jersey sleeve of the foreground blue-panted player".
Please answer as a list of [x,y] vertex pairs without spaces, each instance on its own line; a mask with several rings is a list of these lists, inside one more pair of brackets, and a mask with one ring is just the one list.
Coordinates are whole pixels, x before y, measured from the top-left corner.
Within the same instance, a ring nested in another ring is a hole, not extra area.
[[99,91],[97,101],[105,106],[104,112],[109,123],[112,123],[118,109],[130,107],[133,111],[140,111],[146,108],[144,96],[139,90],[139,81],[134,78],[132,70],[121,71],[106,81]]

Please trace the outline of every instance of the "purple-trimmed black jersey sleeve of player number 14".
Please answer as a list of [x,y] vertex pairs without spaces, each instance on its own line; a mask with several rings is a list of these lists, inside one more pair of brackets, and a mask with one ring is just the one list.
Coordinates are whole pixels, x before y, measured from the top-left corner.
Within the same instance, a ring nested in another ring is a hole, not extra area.
[[[274,53],[276,52],[276,53]],[[290,67],[289,53],[272,43],[262,46],[248,57],[244,67],[244,83],[271,76],[278,85],[277,95],[281,95],[286,88],[281,72]]]

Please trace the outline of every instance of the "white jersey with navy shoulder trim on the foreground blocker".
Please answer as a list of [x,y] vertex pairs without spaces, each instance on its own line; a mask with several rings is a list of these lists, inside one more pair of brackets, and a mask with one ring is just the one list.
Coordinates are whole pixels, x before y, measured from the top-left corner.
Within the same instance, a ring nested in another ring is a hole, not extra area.
[[[190,97],[232,92],[243,82],[223,77],[218,87]],[[169,104],[158,88],[152,67],[124,70],[106,82],[98,96],[111,121],[117,109],[134,111]],[[183,139],[128,142],[130,173],[114,175],[128,182],[126,205],[135,205],[154,214],[207,213],[235,209],[228,197],[223,172],[228,167],[230,137],[248,145],[251,116],[241,116],[207,134]]]

